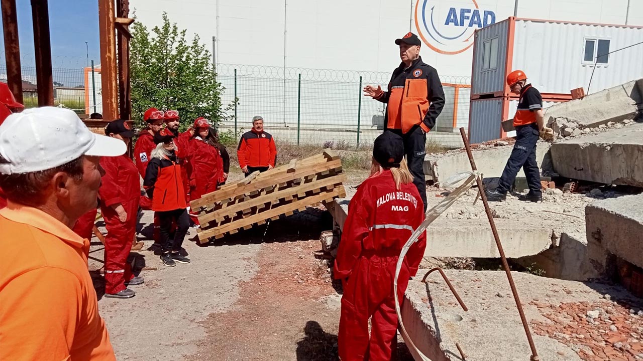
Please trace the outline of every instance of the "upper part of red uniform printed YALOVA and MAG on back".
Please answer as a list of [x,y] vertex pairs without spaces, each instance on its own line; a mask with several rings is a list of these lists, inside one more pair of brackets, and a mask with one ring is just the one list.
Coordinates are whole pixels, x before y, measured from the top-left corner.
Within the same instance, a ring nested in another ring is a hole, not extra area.
[[[333,276],[349,277],[360,256],[399,256],[423,220],[424,205],[413,183],[396,189],[390,170],[368,178],[350,200]],[[404,258],[411,276],[417,272],[425,247],[426,232]]]

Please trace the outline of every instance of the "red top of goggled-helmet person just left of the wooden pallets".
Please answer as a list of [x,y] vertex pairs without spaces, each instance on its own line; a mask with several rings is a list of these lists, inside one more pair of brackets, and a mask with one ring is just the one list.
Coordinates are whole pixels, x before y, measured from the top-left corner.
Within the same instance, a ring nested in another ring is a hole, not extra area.
[[190,173],[190,186],[215,191],[217,189],[217,180],[223,174],[223,162],[221,155],[219,155],[219,150],[203,141],[200,137],[195,137],[190,139],[188,159],[192,170]]

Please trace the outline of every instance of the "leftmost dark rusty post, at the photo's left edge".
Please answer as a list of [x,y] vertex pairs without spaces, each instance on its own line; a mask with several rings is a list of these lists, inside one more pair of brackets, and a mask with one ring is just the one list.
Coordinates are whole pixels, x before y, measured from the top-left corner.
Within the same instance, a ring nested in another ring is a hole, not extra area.
[[23,102],[23,75],[20,65],[18,20],[15,15],[15,0],[2,0],[2,25],[5,30],[6,80],[18,103]]

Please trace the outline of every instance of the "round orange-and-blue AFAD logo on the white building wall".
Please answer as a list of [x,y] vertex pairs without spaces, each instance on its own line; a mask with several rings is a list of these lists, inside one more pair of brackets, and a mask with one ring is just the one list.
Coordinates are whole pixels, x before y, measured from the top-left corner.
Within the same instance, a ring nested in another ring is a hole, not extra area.
[[415,28],[429,48],[441,54],[459,54],[473,46],[476,29],[496,22],[496,13],[480,10],[476,0],[469,8],[442,8],[439,0],[418,0]]

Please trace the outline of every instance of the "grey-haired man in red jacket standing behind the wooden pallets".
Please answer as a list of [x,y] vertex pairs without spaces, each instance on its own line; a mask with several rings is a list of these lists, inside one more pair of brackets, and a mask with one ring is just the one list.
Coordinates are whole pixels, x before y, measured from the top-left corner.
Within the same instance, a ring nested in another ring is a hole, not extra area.
[[252,118],[252,130],[241,136],[237,158],[246,176],[257,170],[266,172],[275,168],[277,148],[273,136],[264,132],[264,118]]

